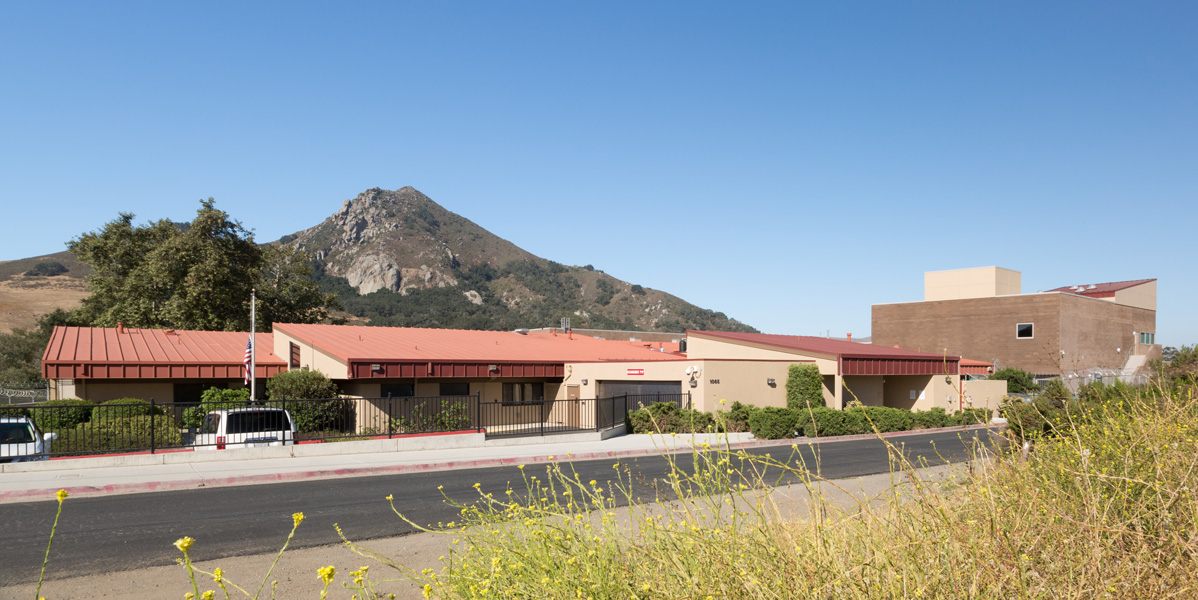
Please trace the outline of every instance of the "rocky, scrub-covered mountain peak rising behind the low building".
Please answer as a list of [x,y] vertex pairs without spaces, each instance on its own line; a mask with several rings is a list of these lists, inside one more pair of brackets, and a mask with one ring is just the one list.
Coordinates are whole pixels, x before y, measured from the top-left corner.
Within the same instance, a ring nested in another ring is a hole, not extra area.
[[534,256],[411,187],[369,189],[284,236],[316,257],[326,290],[374,325],[755,331],[722,313],[591,267]]

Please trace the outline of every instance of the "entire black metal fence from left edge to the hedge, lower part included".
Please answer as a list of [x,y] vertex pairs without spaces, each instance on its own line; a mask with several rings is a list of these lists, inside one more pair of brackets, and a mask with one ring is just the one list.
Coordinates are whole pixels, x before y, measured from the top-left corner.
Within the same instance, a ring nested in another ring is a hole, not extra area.
[[[531,402],[484,402],[479,395],[468,395],[272,400],[256,404],[151,400],[0,405],[0,417],[26,417],[36,431],[22,435],[37,437],[42,443],[41,448],[36,443],[5,443],[0,461],[288,446],[450,431],[485,431],[489,438],[603,431],[622,425],[629,411],[655,402],[689,408],[690,394]],[[18,429],[10,426],[6,431]]]

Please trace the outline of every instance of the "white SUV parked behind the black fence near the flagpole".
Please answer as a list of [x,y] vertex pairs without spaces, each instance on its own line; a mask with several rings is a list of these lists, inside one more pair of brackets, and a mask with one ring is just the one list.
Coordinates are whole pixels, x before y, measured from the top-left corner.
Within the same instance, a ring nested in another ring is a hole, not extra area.
[[204,416],[196,450],[225,450],[296,443],[296,424],[283,408],[232,408]]

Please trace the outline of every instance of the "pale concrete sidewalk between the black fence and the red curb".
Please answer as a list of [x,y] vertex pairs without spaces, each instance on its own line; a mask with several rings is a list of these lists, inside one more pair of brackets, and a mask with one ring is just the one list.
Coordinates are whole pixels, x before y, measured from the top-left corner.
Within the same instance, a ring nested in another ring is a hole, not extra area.
[[[978,428],[981,425],[948,430]],[[891,437],[931,431],[937,430],[883,435]],[[869,437],[876,436],[845,436],[822,438],[818,442]],[[241,450],[97,456],[4,465],[4,472],[0,472],[0,503],[52,502],[60,489],[75,497],[140,493],[213,485],[528,465],[552,460],[660,455],[690,451],[704,443],[739,449],[815,442],[817,440],[813,438],[756,440],[751,434],[624,435],[607,438],[603,434],[581,434],[490,441],[482,434],[464,434]]]

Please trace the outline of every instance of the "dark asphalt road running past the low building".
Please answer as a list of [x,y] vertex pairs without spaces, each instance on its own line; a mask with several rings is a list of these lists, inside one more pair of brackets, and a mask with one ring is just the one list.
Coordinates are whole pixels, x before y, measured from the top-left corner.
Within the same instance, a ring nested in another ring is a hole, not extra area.
[[[968,435],[987,436],[985,430]],[[928,465],[957,462],[969,457],[961,432],[938,432],[893,438],[913,460]],[[889,471],[890,456],[878,440],[818,444],[818,465],[828,479],[842,479]],[[774,459],[792,454],[789,446],[757,448]],[[809,467],[816,465],[810,449],[800,449]],[[690,455],[677,455],[682,465]],[[615,477],[613,460],[577,461],[573,466],[582,481],[607,481]],[[665,457],[624,459],[633,469],[636,489],[653,498],[653,485],[668,469]],[[544,465],[527,467],[528,474],[544,478]],[[394,496],[395,507],[418,523],[460,519],[450,498],[472,502],[473,489],[501,496],[509,486],[524,490],[516,467],[405,473],[344,479],[322,479],[247,486],[177,490],[67,499],[50,553],[47,578],[73,577],[107,571],[174,564],[180,553],[171,544],[183,537],[195,538],[192,557],[196,560],[273,552],[291,529],[291,514],[303,513],[291,547],[335,544],[333,523],[339,523],[352,540],[368,540],[412,533],[413,528],[391,511],[385,499]],[[791,480],[782,480],[788,483]],[[0,504],[0,586],[37,581],[46,541],[54,522],[54,504],[30,502]]]

